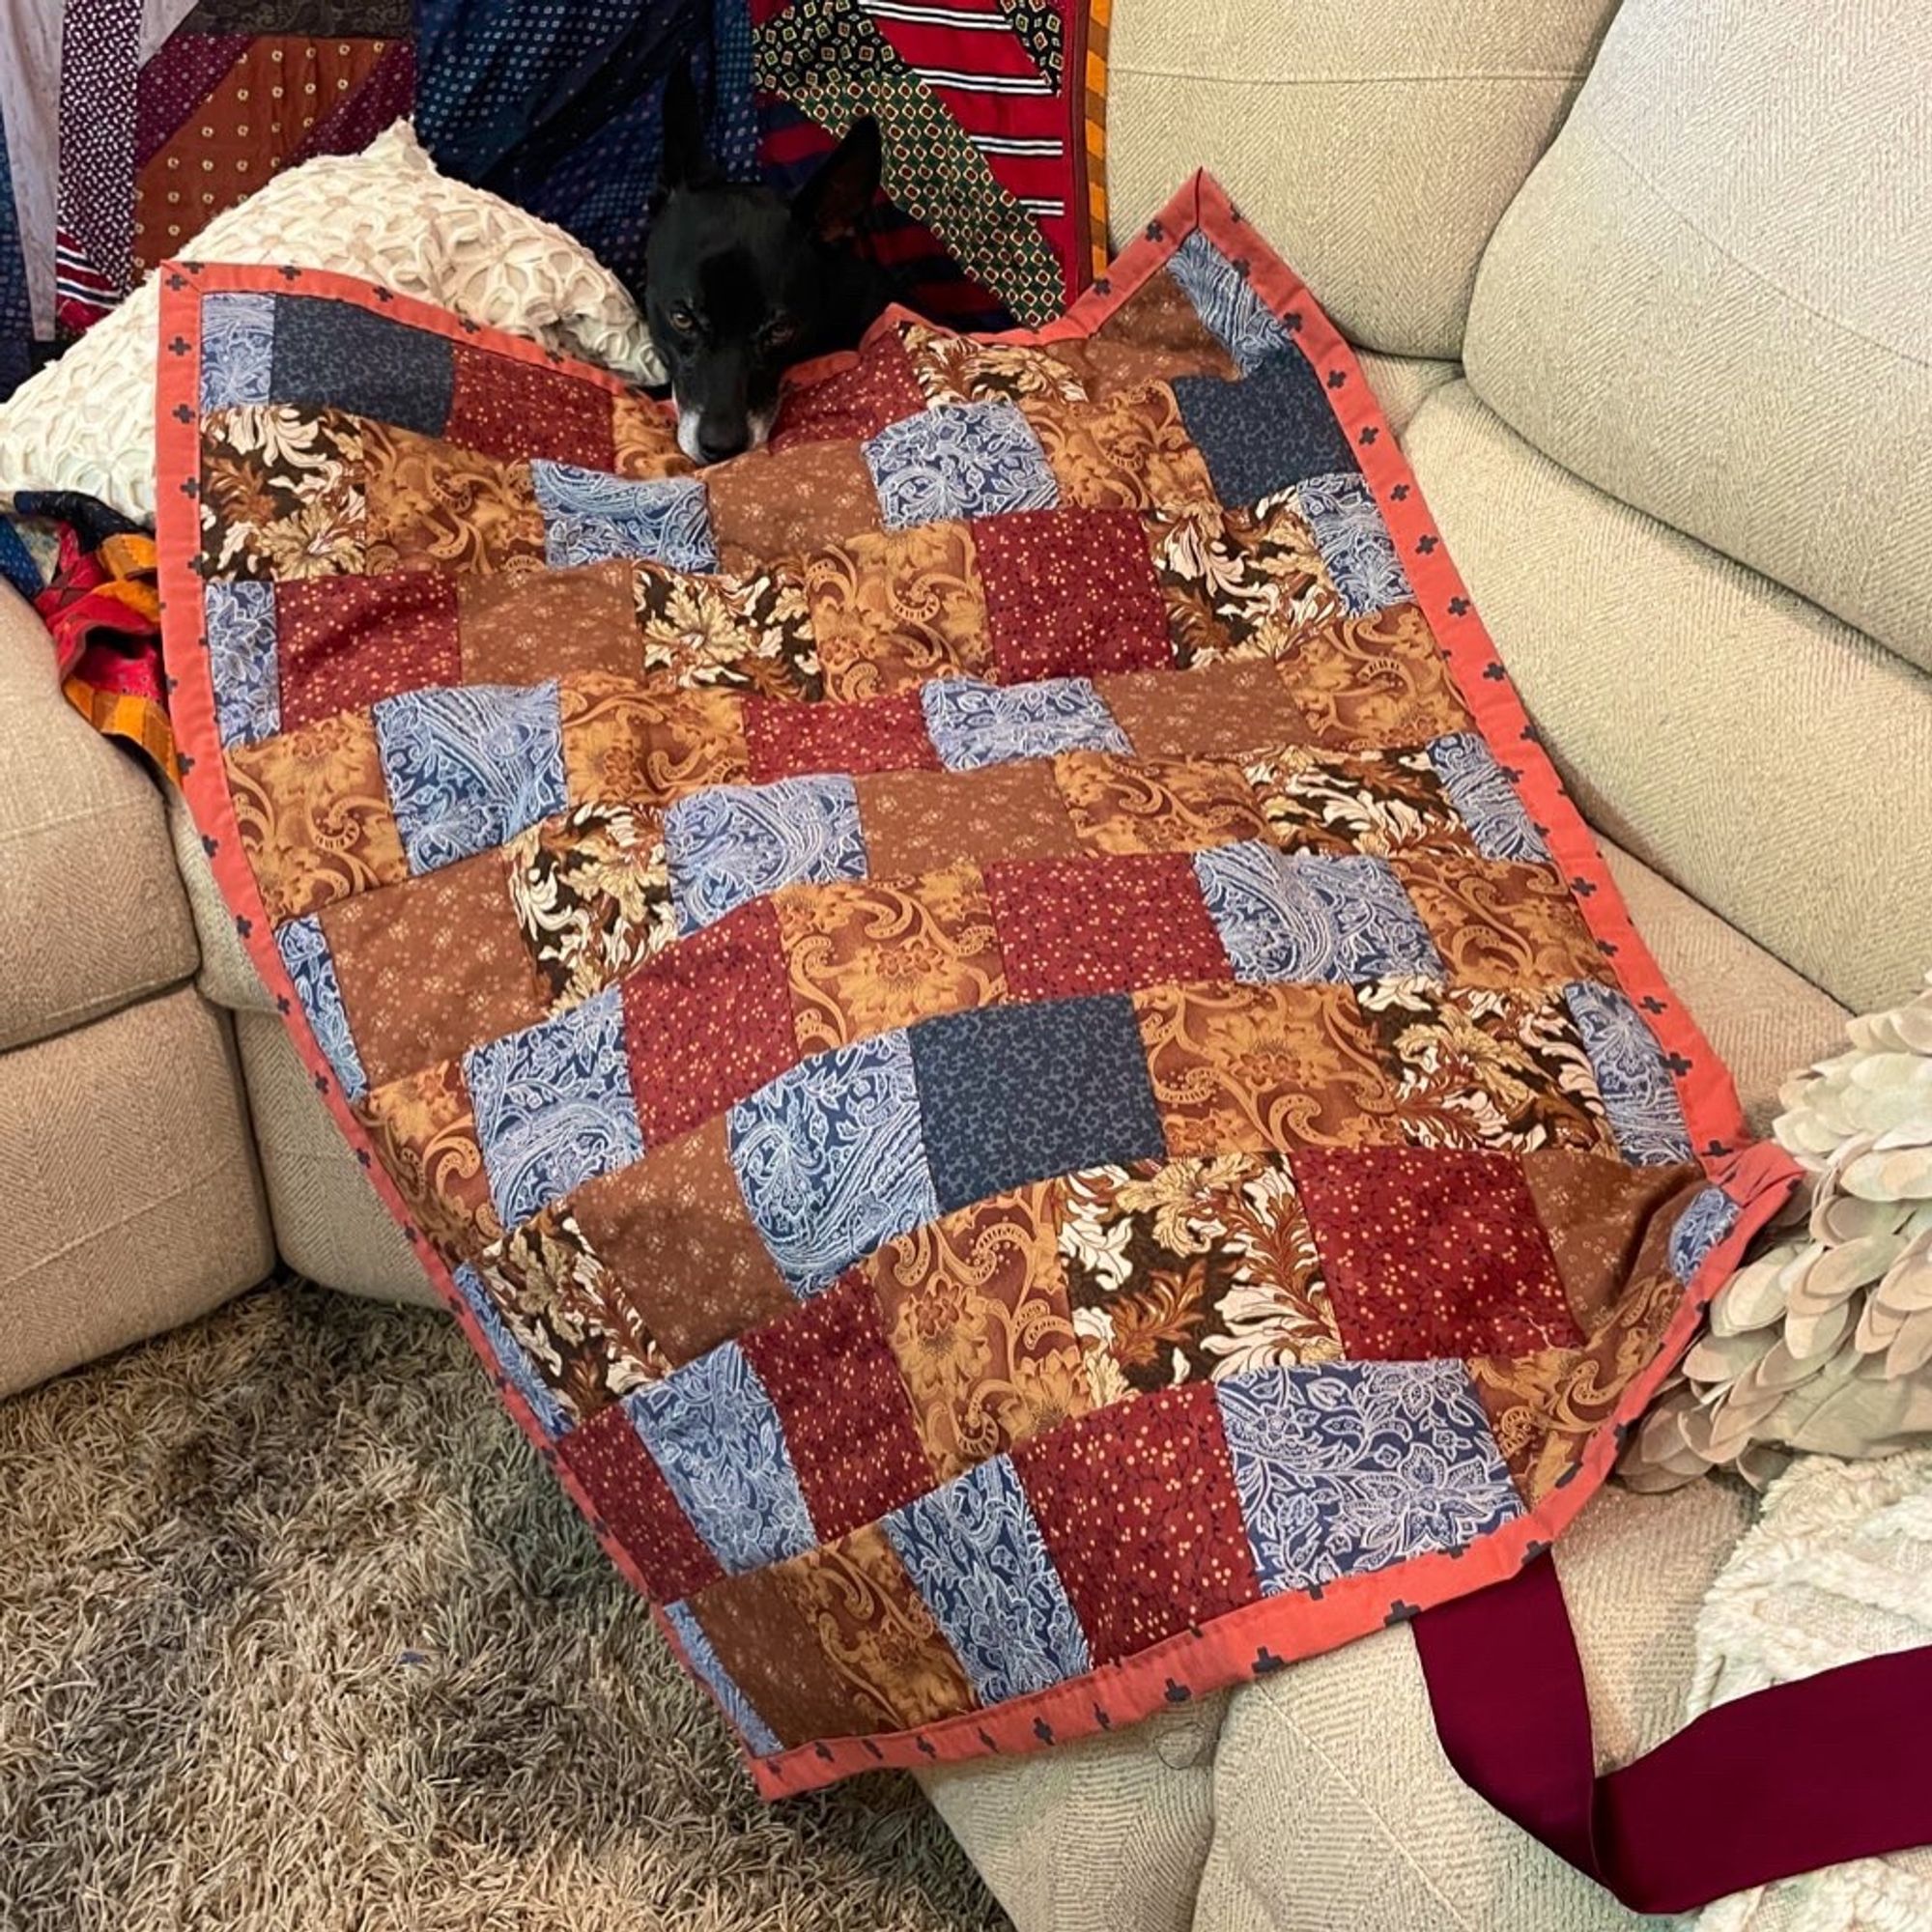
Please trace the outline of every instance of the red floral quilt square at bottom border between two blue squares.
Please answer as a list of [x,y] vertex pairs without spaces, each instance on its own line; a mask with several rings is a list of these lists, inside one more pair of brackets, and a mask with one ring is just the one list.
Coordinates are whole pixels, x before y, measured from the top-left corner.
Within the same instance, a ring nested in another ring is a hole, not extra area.
[[1012,1461],[1095,1663],[1260,1598],[1211,1383],[1097,1408]]

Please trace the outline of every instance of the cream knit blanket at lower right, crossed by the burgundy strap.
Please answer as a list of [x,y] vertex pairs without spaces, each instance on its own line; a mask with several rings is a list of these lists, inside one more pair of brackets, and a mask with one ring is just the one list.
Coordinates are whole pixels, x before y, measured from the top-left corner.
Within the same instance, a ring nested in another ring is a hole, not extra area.
[[[1689,1716],[1747,1690],[1932,1642],[1932,1451],[1801,1457],[1698,1615]],[[1826,1776],[1830,1772],[1826,1770]],[[1696,1932],[1926,1932],[1932,1851],[1719,1899]]]

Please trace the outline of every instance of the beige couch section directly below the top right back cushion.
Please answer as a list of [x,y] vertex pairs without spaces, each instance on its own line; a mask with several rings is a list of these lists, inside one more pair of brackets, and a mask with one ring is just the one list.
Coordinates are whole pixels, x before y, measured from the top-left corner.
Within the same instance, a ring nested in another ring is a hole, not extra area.
[[1588,819],[1859,1010],[1932,964],[1932,678],[1577,481],[1470,390],[1403,439]]

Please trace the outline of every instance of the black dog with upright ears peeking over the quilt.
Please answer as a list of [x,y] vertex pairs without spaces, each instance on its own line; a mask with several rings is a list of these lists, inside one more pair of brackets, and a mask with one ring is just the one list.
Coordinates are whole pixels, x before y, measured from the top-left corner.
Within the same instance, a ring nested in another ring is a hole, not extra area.
[[779,377],[852,348],[893,301],[887,276],[852,247],[877,187],[871,116],[852,124],[790,203],[726,182],[705,151],[692,79],[672,73],[643,313],[670,373],[686,456],[717,464],[757,448],[779,412]]

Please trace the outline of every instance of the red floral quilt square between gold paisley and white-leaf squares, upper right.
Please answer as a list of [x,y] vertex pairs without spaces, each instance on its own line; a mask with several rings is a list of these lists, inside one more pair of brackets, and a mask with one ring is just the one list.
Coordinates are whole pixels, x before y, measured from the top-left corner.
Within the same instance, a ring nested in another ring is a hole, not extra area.
[[972,535],[1003,684],[1173,663],[1132,510],[1016,510],[976,520]]

